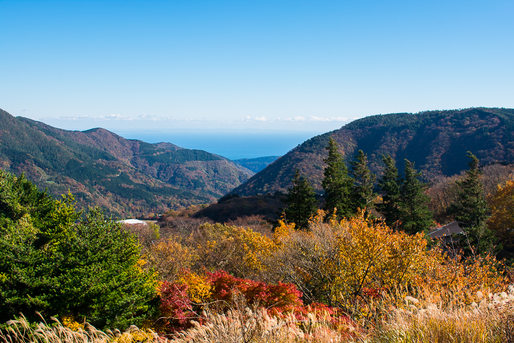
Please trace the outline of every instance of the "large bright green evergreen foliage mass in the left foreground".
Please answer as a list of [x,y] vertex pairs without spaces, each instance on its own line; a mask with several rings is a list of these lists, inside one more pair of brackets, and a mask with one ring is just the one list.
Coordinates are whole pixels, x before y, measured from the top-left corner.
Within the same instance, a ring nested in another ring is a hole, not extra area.
[[148,315],[155,281],[137,238],[74,196],[52,200],[23,175],[0,170],[0,321],[23,313],[123,328]]

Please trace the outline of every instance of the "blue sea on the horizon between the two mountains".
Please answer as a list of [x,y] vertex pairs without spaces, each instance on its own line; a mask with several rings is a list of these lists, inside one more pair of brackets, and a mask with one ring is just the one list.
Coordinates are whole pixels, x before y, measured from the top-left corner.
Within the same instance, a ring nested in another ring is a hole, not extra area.
[[111,131],[127,139],[139,139],[148,143],[169,142],[182,148],[205,150],[229,159],[282,156],[307,139],[323,133],[278,130],[235,132]]

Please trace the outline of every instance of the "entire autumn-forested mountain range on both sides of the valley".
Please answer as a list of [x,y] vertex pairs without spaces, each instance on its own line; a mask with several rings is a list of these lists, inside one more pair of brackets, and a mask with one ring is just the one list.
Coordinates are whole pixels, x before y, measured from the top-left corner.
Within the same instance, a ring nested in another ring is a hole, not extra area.
[[466,169],[468,150],[482,164],[513,162],[514,110],[370,116],[313,137],[282,157],[235,161],[172,143],[125,139],[99,128],[61,130],[0,110],[0,168],[24,172],[56,196],[69,189],[79,207],[99,205],[115,216],[137,216],[211,203],[229,192],[285,192],[296,169],[321,193],[324,147],[331,136],[347,163],[362,149],[380,175],[381,156],[387,153],[400,172],[407,158],[428,179]]

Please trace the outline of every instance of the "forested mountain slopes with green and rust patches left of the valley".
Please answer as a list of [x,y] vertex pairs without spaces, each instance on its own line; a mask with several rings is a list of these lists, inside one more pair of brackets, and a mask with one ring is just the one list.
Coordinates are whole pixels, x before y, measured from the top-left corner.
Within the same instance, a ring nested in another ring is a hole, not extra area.
[[66,131],[0,110],[0,168],[25,172],[53,195],[119,216],[210,203],[253,173],[229,159],[104,129]]

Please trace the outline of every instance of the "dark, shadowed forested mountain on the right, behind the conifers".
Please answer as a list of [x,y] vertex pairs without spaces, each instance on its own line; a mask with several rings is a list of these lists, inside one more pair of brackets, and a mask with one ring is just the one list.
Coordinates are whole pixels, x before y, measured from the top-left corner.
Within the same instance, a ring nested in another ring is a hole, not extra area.
[[514,110],[472,108],[454,111],[395,113],[355,120],[339,130],[305,141],[231,193],[242,196],[285,191],[295,169],[322,191],[321,180],[328,138],[340,145],[346,163],[359,149],[368,154],[371,169],[381,174],[383,154],[390,154],[400,172],[403,159],[415,162],[424,177],[453,175],[467,168],[466,151],[482,164],[514,161]]

